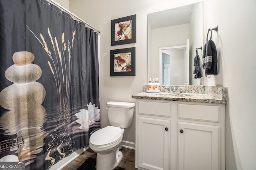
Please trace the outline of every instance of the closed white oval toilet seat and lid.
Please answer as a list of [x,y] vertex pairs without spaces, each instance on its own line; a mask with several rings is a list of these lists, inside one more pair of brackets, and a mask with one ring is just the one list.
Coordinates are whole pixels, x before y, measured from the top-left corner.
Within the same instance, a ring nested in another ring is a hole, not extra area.
[[107,126],[94,132],[90,137],[89,146],[94,151],[103,151],[119,147],[123,131],[120,127]]

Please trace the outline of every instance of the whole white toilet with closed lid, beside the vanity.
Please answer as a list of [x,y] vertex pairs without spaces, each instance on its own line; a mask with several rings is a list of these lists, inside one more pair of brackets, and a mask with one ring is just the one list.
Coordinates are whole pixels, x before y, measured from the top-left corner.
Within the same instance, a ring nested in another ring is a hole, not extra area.
[[132,124],[134,103],[107,102],[109,126],[92,133],[89,146],[97,153],[96,170],[112,170],[123,158],[124,128]]

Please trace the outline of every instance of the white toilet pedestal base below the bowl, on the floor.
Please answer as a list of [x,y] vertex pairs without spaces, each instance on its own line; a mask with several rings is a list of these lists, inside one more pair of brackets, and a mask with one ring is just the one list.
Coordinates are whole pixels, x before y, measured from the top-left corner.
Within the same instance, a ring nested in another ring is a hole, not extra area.
[[119,147],[108,154],[97,153],[96,170],[112,170],[122,160],[123,154]]

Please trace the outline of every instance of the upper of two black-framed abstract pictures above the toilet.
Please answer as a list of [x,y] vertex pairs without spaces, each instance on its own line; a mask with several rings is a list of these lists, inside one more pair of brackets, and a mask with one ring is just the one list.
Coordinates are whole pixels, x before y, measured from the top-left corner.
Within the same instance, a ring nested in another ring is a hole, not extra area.
[[111,46],[136,43],[136,14],[111,20]]

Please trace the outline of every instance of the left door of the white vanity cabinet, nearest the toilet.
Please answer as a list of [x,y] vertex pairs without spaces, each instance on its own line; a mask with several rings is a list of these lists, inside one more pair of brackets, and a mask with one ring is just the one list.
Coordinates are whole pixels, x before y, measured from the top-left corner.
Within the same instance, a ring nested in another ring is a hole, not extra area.
[[139,168],[169,170],[170,121],[138,117],[137,130]]

